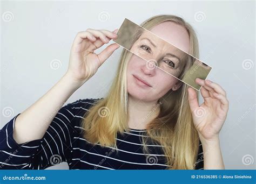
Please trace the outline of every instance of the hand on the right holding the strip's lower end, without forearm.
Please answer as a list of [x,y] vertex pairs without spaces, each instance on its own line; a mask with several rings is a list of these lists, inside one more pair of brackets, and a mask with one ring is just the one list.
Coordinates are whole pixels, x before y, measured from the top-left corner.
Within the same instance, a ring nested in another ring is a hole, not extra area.
[[209,80],[197,78],[196,83],[201,86],[200,92],[204,103],[199,106],[196,91],[191,87],[188,88],[188,101],[194,126],[204,140],[216,140],[227,117],[226,91],[219,84]]

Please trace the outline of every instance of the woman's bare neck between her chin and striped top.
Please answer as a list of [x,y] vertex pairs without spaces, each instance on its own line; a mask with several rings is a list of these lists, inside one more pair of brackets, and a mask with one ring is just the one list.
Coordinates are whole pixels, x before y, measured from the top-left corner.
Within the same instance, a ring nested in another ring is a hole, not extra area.
[[145,102],[128,95],[128,126],[130,129],[146,129],[147,124],[157,117],[160,108],[157,100]]

